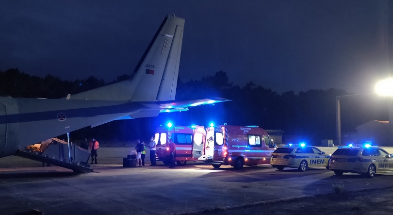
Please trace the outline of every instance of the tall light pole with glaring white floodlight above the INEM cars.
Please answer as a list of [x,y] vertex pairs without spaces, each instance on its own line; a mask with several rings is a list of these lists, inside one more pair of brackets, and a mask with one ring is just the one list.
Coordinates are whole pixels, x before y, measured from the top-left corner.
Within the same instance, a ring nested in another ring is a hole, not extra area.
[[[373,93],[362,93],[336,97],[336,134],[339,146],[341,146],[341,99],[370,96],[373,94],[378,96],[393,97],[393,79],[389,78],[379,81],[376,84],[375,92]],[[393,99],[390,99],[389,101],[389,125],[391,140],[393,141]]]

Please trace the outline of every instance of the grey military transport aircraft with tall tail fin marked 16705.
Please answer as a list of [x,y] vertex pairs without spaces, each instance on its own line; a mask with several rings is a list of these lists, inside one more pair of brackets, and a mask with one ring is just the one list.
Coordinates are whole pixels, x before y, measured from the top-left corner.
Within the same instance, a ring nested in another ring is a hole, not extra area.
[[174,100],[183,30],[184,19],[166,16],[129,80],[62,99],[0,97],[0,158],[84,127],[225,101]]

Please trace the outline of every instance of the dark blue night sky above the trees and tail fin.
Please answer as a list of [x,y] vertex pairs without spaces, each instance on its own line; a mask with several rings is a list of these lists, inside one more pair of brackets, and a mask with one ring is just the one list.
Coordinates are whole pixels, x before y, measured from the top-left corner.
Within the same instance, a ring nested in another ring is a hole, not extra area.
[[131,74],[167,14],[185,18],[183,81],[223,70],[279,93],[361,93],[393,69],[388,0],[0,0],[0,69],[113,81]]

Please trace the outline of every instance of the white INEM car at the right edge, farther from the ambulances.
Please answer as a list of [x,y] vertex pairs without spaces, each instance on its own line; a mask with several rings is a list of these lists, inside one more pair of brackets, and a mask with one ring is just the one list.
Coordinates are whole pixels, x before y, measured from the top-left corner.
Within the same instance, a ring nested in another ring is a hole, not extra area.
[[330,159],[329,168],[336,175],[353,172],[372,178],[376,173],[393,171],[392,155],[370,144],[341,147],[331,155]]

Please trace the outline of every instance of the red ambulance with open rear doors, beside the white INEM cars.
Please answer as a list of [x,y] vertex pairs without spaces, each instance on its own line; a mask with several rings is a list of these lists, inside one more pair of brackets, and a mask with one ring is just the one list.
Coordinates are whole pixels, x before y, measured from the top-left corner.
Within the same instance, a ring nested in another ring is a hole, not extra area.
[[204,155],[199,160],[219,168],[231,165],[270,164],[276,144],[269,134],[258,126],[232,126],[213,123],[206,128]]

